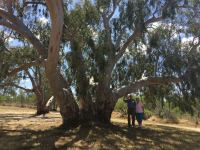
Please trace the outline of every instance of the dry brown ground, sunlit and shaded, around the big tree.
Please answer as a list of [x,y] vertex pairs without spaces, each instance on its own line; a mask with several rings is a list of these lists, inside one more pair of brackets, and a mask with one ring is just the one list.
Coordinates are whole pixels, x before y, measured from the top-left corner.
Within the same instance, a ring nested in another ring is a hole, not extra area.
[[32,117],[35,110],[0,106],[0,150],[27,149],[192,149],[200,150],[200,129],[184,124],[144,121],[142,129],[127,128],[117,113],[113,125],[84,125],[61,130],[58,112]]

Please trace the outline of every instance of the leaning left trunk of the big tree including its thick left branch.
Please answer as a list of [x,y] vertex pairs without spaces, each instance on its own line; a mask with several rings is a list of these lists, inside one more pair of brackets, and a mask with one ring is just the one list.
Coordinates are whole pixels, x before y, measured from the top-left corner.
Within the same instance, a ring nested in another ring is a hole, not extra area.
[[71,125],[78,122],[79,109],[69,85],[57,68],[63,27],[63,2],[61,0],[46,0],[46,4],[50,12],[52,23],[48,53],[45,46],[34,36],[23,21],[13,15],[12,12],[7,12],[0,8],[0,16],[4,18],[1,20],[0,25],[13,29],[23,35],[33,44],[33,47],[37,49],[42,59],[47,58],[45,61],[46,77],[58,101],[63,123],[65,125]]

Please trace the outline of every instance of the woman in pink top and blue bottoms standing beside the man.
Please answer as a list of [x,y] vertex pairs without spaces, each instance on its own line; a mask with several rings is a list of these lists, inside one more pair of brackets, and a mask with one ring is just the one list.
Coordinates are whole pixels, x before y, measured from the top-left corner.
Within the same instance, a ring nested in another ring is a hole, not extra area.
[[142,119],[143,119],[144,107],[139,98],[136,99],[136,119],[139,124],[139,127],[142,127]]

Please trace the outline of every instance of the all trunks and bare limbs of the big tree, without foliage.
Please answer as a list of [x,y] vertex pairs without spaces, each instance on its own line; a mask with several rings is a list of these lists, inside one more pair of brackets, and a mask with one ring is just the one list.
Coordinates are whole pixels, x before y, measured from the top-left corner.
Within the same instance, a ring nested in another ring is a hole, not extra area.
[[[7,9],[2,7],[0,8],[0,25],[21,34],[38,51],[41,56],[40,59],[43,59],[45,63],[46,77],[60,107],[60,113],[65,126],[76,125],[86,120],[109,123],[111,113],[120,97],[135,92],[144,86],[180,82],[180,79],[176,77],[147,77],[146,79],[132,82],[125,87],[118,89],[111,88],[112,72],[120,58],[123,57],[126,49],[141,39],[142,34],[150,24],[166,19],[166,16],[162,13],[166,11],[168,12],[168,10],[172,9],[173,5],[177,6],[177,3],[173,0],[165,1],[165,3],[160,7],[161,10],[159,10],[159,12],[161,15],[158,17],[155,17],[154,14],[146,20],[144,20],[144,16],[142,16],[142,18],[138,17],[138,19],[140,18],[139,20],[132,22],[134,28],[132,31],[130,30],[130,35],[123,35],[125,29],[122,27],[116,42],[113,42],[110,22],[121,1],[110,1],[110,6],[112,6],[109,7],[110,11],[107,11],[106,9],[104,10],[103,8],[99,9],[101,19],[103,20],[103,30],[106,34],[106,42],[103,44],[103,48],[99,48],[98,45],[95,45],[93,39],[91,39],[93,44],[88,44],[92,51],[96,52],[94,54],[94,61],[97,65],[97,69],[99,70],[98,74],[100,76],[97,80],[97,84],[92,87],[95,91],[93,94],[89,92],[91,89],[91,84],[89,82],[91,77],[87,76],[87,66],[82,53],[82,48],[84,47],[84,44],[82,45],[82,43],[84,43],[84,40],[79,39],[79,41],[75,38],[69,40],[73,49],[71,69],[75,72],[74,76],[78,87],[77,95],[80,105],[77,104],[71,91],[71,84],[62,76],[58,67],[60,43],[64,24],[63,2],[61,0],[46,0],[46,4],[42,2],[42,5],[48,7],[51,20],[51,34],[48,49],[45,48],[39,39],[36,38],[23,21],[13,14],[11,8],[14,5],[14,1],[9,2],[10,3],[6,4],[6,6],[8,6]],[[146,4],[144,3],[144,5]],[[64,32],[66,31],[67,30]],[[76,33],[74,33],[74,36],[75,34]],[[67,38],[68,37],[69,36],[67,36]],[[126,39],[124,39],[124,37],[126,37]],[[103,66],[102,59],[100,55],[98,55],[99,51],[108,52],[106,53],[106,61],[104,61]]]

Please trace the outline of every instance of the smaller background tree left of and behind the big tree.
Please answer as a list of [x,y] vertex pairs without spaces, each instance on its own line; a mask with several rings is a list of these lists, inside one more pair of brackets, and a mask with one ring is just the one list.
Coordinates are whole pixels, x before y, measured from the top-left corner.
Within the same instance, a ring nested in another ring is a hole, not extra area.
[[[45,77],[42,77],[42,66],[31,67],[29,63],[37,59],[37,54],[31,47],[23,48],[6,48],[6,43],[2,42],[2,66],[1,66],[1,88],[16,87],[25,92],[32,92],[36,95],[37,115],[47,111],[44,99]],[[35,63],[35,62],[32,62]],[[35,65],[41,65],[42,62],[37,62]],[[44,72],[44,69],[43,69]],[[43,73],[44,74],[44,73]],[[7,76],[7,78],[6,78]],[[20,80],[30,80],[32,88],[25,88],[20,85]]]

